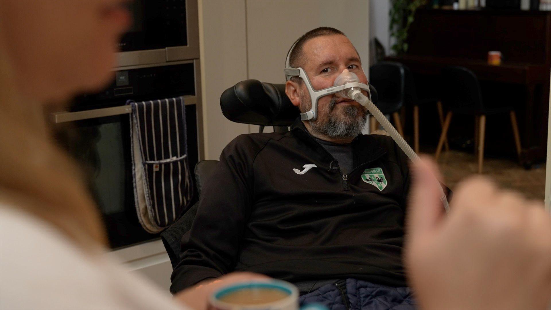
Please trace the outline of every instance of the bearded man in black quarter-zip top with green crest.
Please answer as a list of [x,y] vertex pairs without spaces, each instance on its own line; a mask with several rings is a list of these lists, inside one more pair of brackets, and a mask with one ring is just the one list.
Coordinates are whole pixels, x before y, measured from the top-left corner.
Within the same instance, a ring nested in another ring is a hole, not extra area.
[[363,106],[330,94],[316,109],[307,88],[330,88],[345,69],[367,84],[358,52],[322,27],[295,42],[286,65],[309,79],[286,70],[285,93],[302,119],[224,148],[182,238],[171,291],[253,271],[294,283],[301,303],[414,308],[402,263],[408,159],[390,137],[361,134]]

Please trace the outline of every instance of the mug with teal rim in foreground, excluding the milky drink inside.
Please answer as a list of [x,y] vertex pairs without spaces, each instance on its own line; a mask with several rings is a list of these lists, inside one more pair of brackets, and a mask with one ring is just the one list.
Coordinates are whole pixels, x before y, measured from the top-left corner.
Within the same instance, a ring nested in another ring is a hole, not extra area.
[[[235,304],[221,301],[220,298],[224,296],[235,293],[241,290],[248,290],[251,288],[264,288],[268,290],[277,290],[285,293],[286,297],[268,303],[258,303],[258,304]],[[298,308],[298,298],[299,292],[298,289],[289,282],[282,280],[268,280],[268,281],[247,281],[231,284],[229,286],[220,288],[220,290],[215,291],[210,295],[209,302],[210,306],[216,309],[296,309]]]

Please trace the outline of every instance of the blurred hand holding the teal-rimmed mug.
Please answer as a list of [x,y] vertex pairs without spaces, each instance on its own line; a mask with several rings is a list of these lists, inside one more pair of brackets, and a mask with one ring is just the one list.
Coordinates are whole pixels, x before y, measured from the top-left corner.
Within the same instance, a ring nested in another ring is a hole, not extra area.
[[218,279],[207,279],[199,282],[199,284],[177,293],[174,298],[185,303],[190,309],[207,309],[210,295],[223,286],[237,282],[269,279],[271,278],[268,276],[253,272],[231,272],[231,274],[221,276]]

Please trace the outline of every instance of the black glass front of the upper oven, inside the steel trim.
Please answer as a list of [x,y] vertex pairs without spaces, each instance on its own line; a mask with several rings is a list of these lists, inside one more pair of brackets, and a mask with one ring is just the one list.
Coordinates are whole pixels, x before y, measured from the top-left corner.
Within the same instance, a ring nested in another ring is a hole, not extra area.
[[122,52],[186,46],[186,0],[136,0],[128,3],[132,28],[122,37]]

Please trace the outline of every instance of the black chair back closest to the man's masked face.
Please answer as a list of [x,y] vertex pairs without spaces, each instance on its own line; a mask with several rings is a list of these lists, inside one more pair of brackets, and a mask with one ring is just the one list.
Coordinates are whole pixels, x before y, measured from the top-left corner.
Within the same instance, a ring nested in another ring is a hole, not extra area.
[[406,97],[406,72],[399,62],[383,61],[369,68],[369,83],[377,88],[377,108],[391,114],[402,108]]

